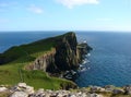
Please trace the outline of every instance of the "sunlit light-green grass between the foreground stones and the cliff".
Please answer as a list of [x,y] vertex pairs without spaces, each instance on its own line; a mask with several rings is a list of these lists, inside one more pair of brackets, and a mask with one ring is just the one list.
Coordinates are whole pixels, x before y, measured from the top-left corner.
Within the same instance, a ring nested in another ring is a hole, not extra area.
[[31,86],[45,89],[59,89],[61,83],[72,83],[70,81],[50,77],[41,71],[22,70],[23,63],[13,63],[0,66],[0,84],[15,85],[25,82]]

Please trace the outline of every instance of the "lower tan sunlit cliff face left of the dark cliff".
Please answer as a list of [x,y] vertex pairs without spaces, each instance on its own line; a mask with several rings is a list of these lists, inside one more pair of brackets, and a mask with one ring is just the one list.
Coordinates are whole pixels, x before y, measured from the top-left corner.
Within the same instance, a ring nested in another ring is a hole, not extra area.
[[46,52],[45,54],[38,57],[33,63],[29,63],[26,69],[56,72],[57,66],[55,64],[55,54],[56,50],[51,49],[51,51]]

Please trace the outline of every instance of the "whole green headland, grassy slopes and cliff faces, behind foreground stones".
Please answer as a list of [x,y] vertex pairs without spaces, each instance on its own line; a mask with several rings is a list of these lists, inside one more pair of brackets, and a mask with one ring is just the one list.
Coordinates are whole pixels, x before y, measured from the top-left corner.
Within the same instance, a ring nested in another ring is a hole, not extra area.
[[0,84],[25,82],[35,88],[74,88],[71,81],[49,76],[47,72],[76,69],[82,53],[74,33],[14,46],[0,54]]

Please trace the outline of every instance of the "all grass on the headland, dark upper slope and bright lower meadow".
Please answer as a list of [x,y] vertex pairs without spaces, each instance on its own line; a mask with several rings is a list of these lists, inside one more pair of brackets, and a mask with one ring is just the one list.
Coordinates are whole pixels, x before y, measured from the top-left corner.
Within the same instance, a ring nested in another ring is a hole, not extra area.
[[[60,38],[56,37],[56,38]],[[12,60],[10,63],[0,65],[0,84],[14,85],[19,82],[25,82],[37,88],[59,89],[60,84],[72,84],[70,81],[50,77],[41,71],[26,71],[24,65],[33,62],[37,57],[48,53],[55,46],[52,38],[39,40],[28,45],[12,47],[2,56],[7,60]]]

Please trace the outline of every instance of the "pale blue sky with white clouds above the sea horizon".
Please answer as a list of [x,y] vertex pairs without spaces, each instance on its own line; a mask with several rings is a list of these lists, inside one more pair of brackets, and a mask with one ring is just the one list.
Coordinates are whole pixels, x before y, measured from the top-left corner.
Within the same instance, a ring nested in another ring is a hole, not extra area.
[[129,31],[131,0],[0,0],[0,32]]

